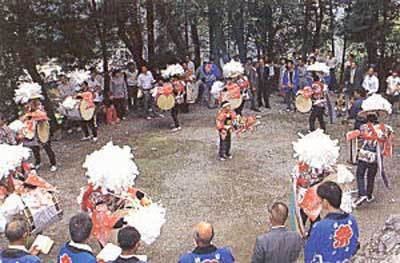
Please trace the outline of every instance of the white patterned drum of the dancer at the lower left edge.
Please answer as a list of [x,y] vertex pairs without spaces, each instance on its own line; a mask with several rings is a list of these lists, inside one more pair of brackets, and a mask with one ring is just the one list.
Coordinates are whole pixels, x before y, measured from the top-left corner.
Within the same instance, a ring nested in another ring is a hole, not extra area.
[[31,232],[38,234],[63,216],[60,202],[54,193],[36,188],[21,195],[25,204],[24,216],[31,226]]

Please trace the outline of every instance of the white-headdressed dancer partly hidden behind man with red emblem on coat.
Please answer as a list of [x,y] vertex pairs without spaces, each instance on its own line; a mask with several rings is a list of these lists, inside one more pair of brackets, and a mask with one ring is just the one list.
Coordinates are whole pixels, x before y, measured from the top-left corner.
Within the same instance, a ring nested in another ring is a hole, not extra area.
[[303,236],[307,235],[306,222],[310,229],[320,220],[321,203],[317,188],[324,181],[334,181],[343,190],[342,211],[349,213],[351,207],[352,173],[338,165],[338,140],[332,140],[323,130],[318,129],[293,143],[297,164],[292,173],[293,195],[291,198],[291,226]]

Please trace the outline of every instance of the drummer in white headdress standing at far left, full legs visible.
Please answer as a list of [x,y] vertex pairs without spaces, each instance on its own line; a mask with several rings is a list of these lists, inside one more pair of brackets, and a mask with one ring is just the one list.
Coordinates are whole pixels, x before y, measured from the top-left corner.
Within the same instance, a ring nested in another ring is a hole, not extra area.
[[49,117],[41,104],[42,87],[38,83],[22,83],[15,90],[15,102],[24,106],[21,121],[24,127],[20,130],[19,138],[24,146],[29,147],[35,157],[36,169],[40,168],[40,148],[43,148],[50,160],[50,170],[57,170],[56,157],[50,143]]

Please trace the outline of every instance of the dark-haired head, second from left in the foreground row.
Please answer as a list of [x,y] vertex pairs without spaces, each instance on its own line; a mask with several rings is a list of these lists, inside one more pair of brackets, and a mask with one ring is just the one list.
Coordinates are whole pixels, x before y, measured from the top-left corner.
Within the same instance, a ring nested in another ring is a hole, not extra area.
[[69,234],[75,243],[86,241],[92,232],[92,228],[92,219],[85,213],[77,214],[69,221]]

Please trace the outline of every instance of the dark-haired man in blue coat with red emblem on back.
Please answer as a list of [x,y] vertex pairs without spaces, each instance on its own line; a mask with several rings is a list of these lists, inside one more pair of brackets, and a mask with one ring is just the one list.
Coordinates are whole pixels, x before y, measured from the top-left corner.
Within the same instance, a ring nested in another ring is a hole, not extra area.
[[324,182],[317,189],[326,217],[315,223],[304,248],[306,263],[347,262],[357,252],[358,225],[355,218],[340,209],[342,190],[334,182]]

